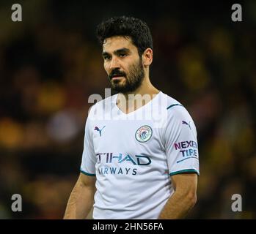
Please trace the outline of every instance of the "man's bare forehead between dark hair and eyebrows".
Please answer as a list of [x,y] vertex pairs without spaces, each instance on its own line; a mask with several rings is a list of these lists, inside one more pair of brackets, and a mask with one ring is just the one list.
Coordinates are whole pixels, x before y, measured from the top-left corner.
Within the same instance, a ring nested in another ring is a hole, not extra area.
[[121,48],[128,48],[129,50],[136,50],[136,46],[132,43],[130,37],[108,37],[103,42],[103,51],[112,52]]

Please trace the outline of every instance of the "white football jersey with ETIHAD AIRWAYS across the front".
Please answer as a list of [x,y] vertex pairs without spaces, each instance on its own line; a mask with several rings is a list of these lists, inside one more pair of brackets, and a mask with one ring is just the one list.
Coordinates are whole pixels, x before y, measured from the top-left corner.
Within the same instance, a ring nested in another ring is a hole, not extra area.
[[194,121],[162,92],[128,114],[116,101],[93,105],[85,126],[81,173],[97,178],[93,219],[158,219],[174,192],[170,176],[199,175]]

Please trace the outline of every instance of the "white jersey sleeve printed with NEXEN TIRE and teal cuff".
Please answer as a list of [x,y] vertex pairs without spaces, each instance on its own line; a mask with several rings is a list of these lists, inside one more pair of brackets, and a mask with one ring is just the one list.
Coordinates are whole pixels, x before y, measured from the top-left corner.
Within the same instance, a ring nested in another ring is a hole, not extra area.
[[165,151],[169,175],[178,173],[197,173],[199,152],[197,129],[185,107],[177,105],[170,108],[164,133]]

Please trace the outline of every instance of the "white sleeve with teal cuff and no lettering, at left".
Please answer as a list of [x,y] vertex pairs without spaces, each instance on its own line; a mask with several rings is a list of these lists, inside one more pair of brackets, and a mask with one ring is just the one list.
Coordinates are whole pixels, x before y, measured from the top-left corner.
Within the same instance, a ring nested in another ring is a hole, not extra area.
[[84,151],[81,160],[81,173],[87,176],[95,176],[96,157],[92,141],[91,119],[87,118],[84,132]]

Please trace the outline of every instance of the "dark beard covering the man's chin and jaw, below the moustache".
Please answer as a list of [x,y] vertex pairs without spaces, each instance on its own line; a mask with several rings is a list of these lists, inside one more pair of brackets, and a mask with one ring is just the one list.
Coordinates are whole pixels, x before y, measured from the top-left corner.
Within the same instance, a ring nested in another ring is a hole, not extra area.
[[125,75],[125,84],[120,85],[113,83],[110,80],[111,89],[122,94],[131,93],[142,85],[142,80],[145,77],[145,71],[142,64],[142,58],[139,59],[138,64],[133,64],[128,75]]

